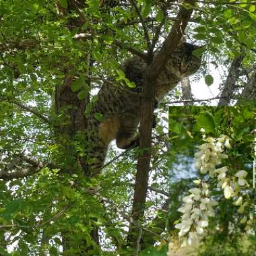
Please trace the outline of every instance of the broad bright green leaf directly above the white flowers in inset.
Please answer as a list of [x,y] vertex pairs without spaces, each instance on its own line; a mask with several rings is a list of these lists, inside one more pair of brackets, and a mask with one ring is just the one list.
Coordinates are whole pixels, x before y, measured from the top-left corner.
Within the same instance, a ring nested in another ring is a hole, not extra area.
[[201,128],[205,129],[205,133],[215,133],[215,121],[214,116],[209,111],[200,113],[197,117],[195,128],[200,130]]

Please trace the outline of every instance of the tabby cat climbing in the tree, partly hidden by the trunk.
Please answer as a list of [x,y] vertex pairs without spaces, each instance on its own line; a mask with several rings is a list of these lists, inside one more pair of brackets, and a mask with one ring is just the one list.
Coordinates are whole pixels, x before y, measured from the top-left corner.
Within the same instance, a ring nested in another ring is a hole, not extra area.
[[[161,71],[156,84],[156,102],[177,86],[182,77],[192,75],[200,66],[201,58],[192,53],[199,46],[183,42],[173,51],[170,61]],[[110,141],[116,139],[117,147],[127,149],[137,141],[139,110],[143,73],[146,63],[131,57],[122,65],[126,77],[134,82],[134,89],[104,83],[88,118],[88,158],[90,173],[97,174],[104,163]],[[100,113],[101,115],[95,115]],[[102,117],[99,118],[99,117]]]

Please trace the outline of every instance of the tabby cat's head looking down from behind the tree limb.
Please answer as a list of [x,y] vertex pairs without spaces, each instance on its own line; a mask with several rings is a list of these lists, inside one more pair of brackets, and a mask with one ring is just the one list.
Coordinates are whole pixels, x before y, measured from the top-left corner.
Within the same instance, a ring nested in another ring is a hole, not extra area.
[[201,48],[195,44],[181,42],[172,52],[166,69],[177,77],[186,77],[195,73],[201,65],[201,57],[193,55],[193,51]]

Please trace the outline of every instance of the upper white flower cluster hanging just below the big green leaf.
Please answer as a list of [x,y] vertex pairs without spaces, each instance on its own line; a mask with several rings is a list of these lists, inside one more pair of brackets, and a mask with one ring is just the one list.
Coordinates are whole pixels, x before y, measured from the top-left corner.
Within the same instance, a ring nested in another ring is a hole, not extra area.
[[200,151],[195,153],[195,168],[205,174],[209,172],[210,177],[214,177],[216,164],[220,164],[222,159],[227,158],[226,154],[222,154],[224,146],[230,148],[229,138],[226,135],[221,135],[218,139],[213,137],[204,137],[204,141],[199,146]]

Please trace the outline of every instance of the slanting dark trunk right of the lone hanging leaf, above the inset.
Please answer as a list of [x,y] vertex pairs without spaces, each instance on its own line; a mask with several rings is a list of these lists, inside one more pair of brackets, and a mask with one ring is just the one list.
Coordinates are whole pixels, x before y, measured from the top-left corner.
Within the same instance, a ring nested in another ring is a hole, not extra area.
[[229,104],[232,94],[234,92],[234,87],[236,86],[237,78],[240,75],[239,69],[241,68],[243,61],[243,55],[239,55],[235,57],[230,65],[230,69],[228,71],[228,77],[226,78],[226,82],[224,84],[224,88],[222,93],[220,94],[220,100],[218,102],[218,106],[226,106]]

